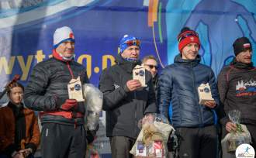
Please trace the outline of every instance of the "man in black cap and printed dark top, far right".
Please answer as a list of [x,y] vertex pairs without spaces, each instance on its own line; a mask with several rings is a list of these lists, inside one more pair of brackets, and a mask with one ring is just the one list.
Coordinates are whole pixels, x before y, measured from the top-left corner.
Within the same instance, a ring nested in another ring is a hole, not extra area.
[[247,37],[235,40],[234,60],[227,67],[223,67],[217,79],[220,93],[220,101],[224,110],[223,136],[227,132],[236,130],[237,126],[232,123],[227,114],[230,110],[239,110],[240,123],[247,126],[251,133],[252,146],[256,149],[256,69],[251,62],[251,42]]

